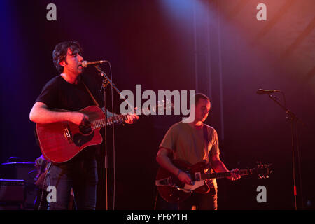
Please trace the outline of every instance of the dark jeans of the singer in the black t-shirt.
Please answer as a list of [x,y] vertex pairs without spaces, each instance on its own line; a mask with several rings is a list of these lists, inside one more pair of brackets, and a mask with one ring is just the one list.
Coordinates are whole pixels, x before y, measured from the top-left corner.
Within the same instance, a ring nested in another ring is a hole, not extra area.
[[97,161],[73,160],[52,164],[48,172],[48,186],[55,186],[57,202],[50,202],[48,210],[66,210],[73,188],[76,209],[94,210],[97,196]]

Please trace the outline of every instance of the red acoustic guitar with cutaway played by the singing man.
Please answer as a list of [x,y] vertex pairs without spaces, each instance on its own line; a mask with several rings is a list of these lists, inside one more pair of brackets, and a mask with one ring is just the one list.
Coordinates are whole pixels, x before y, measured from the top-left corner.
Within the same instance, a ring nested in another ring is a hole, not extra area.
[[[152,106],[151,110],[160,114],[160,110],[170,107],[174,107],[172,102],[163,100],[162,104]],[[52,111],[67,112],[63,109],[52,109]],[[78,112],[87,115],[89,120],[82,125],[67,121],[36,124],[38,143],[46,160],[57,163],[69,161],[87,146],[102,143],[103,138],[99,133],[102,127],[120,124],[127,120],[127,114],[109,117],[105,120],[104,112],[97,106],[87,106]],[[139,112],[135,111],[134,113],[139,114]],[[151,111],[142,109],[141,112],[148,115]]]

